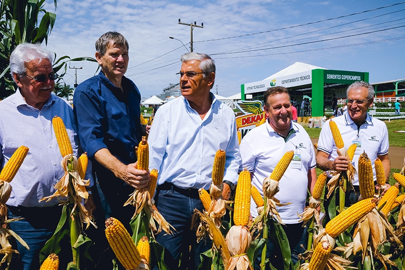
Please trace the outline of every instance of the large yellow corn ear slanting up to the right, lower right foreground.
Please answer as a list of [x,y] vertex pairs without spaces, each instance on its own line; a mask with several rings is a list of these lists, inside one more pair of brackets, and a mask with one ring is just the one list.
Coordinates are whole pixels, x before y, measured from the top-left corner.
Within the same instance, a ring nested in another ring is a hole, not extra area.
[[334,217],[326,224],[325,231],[331,237],[337,237],[348,227],[356,223],[360,218],[367,215],[376,207],[377,199],[361,200],[349,208],[343,210],[339,215]]

